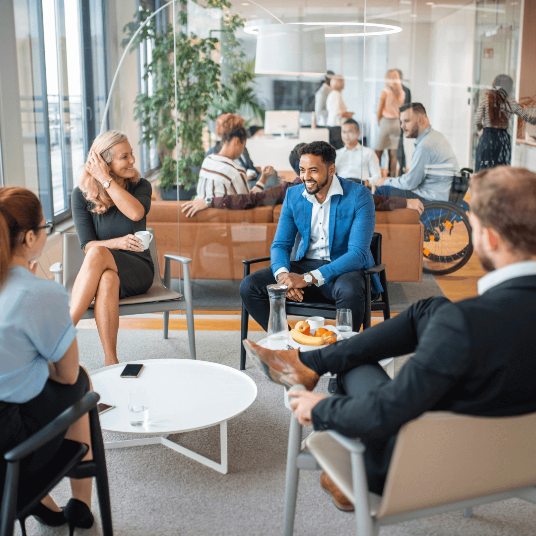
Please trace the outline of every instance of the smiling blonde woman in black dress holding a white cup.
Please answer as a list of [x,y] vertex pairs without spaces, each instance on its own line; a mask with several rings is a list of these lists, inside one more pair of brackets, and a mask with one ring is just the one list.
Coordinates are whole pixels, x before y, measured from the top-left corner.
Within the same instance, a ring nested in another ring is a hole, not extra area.
[[118,362],[119,299],[144,294],[154,277],[151,254],[134,235],[145,230],[152,193],[135,162],[124,133],[103,132],[72,192],[73,219],[86,257],[72,288],[71,317],[76,326],[95,300],[106,365]]

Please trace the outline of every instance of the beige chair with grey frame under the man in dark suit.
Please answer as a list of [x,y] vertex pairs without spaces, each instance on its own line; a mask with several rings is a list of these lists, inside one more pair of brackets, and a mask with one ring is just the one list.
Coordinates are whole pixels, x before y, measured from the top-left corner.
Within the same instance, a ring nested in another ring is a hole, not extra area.
[[[301,387],[301,386],[300,386]],[[296,386],[294,387],[294,389]],[[475,417],[427,412],[399,431],[383,495],[370,493],[364,445],[334,431],[311,434],[300,452],[301,426],[291,418],[285,536],[291,536],[300,469],[322,468],[355,505],[358,536],[509,497],[536,503],[536,413]]]

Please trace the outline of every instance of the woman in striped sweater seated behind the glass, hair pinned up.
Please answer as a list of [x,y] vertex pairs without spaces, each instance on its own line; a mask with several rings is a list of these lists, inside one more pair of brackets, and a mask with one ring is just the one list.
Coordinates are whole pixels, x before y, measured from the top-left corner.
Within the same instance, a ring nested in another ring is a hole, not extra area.
[[259,180],[250,190],[245,169],[233,162],[244,152],[248,137],[243,118],[237,114],[220,115],[216,120],[216,134],[221,137],[222,146],[218,153],[209,154],[203,160],[196,199],[262,192],[266,179],[274,174],[272,166],[266,166],[262,170]]

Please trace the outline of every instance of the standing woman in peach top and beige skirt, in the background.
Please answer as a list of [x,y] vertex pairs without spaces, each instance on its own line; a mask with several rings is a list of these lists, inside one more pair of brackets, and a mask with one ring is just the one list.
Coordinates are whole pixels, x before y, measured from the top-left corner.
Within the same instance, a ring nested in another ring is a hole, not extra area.
[[398,71],[392,69],[385,74],[385,88],[379,98],[378,139],[376,155],[382,160],[385,149],[389,150],[389,171],[394,177],[397,166],[397,149],[400,139],[400,106],[404,106],[405,93]]

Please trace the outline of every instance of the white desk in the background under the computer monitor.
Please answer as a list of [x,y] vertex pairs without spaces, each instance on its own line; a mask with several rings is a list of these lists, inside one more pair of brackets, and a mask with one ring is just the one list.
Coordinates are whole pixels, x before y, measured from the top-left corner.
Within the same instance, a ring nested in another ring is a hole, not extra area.
[[293,171],[288,156],[299,143],[330,141],[329,129],[302,128],[297,138],[281,136],[254,136],[245,146],[255,166],[273,166],[276,171]]

